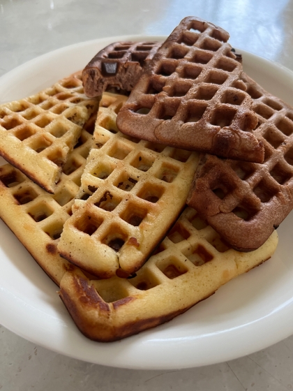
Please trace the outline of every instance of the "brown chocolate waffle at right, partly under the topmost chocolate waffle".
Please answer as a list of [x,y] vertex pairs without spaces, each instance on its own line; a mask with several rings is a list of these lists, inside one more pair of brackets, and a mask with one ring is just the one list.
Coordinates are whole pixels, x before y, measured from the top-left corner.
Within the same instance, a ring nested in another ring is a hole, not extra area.
[[239,251],[261,246],[293,207],[293,109],[247,75],[264,163],[205,155],[188,204]]

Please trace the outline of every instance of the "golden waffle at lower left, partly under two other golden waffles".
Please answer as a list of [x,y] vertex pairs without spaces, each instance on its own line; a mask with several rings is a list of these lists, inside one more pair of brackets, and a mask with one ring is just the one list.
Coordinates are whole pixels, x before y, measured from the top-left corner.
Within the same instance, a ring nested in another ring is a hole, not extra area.
[[75,149],[68,154],[54,195],[41,189],[13,165],[0,167],[0,218],[58,285],[66,270],[73,268],[59,256],[57,242],[80,189],[93,128],[94,124],[87,121]]

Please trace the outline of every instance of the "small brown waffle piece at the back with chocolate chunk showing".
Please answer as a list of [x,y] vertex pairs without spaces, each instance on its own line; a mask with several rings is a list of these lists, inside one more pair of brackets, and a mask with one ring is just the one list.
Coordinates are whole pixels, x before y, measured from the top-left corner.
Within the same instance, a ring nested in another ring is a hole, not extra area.
[[82,71],[84,93],[93,98],[109,87],[131,91],[160,47],[157,42],[115,42],[100,50]]

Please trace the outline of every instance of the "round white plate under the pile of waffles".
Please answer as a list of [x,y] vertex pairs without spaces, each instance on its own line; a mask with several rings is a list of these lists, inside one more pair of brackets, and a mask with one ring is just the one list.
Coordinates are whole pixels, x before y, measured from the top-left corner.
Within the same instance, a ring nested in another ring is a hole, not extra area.
[[[56,50],[0,78],[0,103],[36,93],[84,68],[112,37]],[[245,71],[293,104],[293,73],[243,52]],[[57,286],[0,221],[0,323],[29,341],[80,360],[133,369],[179,369],[232,360],[293,333],[293,215],[278,228],[278,249],[261,267],[239,276],[170,323],[111,344],[83,337]]]

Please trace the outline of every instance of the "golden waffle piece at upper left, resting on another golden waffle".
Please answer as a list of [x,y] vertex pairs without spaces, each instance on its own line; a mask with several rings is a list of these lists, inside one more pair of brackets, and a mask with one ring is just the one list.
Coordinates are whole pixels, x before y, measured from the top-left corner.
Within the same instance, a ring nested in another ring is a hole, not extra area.
[[84,96],[81,73],[39,94],[0,106],[0,155],[54,193],[62,166],[98,101]]

